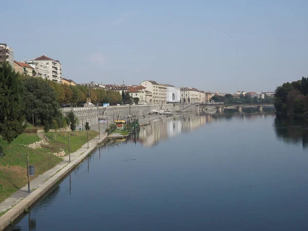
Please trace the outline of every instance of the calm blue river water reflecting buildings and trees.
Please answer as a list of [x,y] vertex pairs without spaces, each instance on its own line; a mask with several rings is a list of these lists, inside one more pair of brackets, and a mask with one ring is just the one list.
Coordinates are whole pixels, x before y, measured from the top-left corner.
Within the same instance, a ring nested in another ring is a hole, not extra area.
[[112,140],[8,230],[308,230],[308,123],[177,115]]

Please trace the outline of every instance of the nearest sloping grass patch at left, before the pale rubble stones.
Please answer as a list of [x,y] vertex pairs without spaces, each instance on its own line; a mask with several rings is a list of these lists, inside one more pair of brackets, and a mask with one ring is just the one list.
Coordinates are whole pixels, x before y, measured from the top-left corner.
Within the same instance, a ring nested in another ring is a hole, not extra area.
[[4,156],[0,156],[0,202],[27,184],[25,155],[29,155],[29,164],[35,166],[35,176],[30,179],[62,161],[61,158],[52,155],[51,145],[43,145],[37,149],[26,146],[36,141],[40,141],[40,138],[35,133],[23,133],[10,144],[0,140],[0,150],[4,153]]

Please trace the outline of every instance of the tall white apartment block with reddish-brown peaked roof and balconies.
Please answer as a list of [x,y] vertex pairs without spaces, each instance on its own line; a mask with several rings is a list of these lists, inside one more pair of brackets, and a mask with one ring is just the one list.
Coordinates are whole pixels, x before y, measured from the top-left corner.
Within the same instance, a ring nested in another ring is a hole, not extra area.
[[[34,60],[26,61],[26,63],[35,66],[35,68],[37,68],[37,72],[40,72],[40,74],[42,74],[42,77],[45,77],[46,79],[57,83],[61,83],[63,73],[62,73],[62,64],[60,63],[59,60],[53,60],[50,57],[47,57],[45,54],[43,54],[41,57],[34,58]],[[40,71],[38,71],[39,68]],[[48,69],[48,75],[46,77],[47,69]]]

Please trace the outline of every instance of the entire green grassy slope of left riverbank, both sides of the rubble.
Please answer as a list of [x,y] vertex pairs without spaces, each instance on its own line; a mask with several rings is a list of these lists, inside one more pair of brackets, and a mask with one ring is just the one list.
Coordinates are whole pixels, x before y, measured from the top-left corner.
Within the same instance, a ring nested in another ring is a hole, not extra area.
[[[27,184],[27,164],[23,160],[26,157],[22,157],[22,159],[19,156],[27,155],[28,153],[29,164],[35,166],[35,176],[30,177],[30,180],[62,161],[53,153],[60,152],[62,149],[68,153],[68,143],[65,140],[67,138],[60,136],[62,132],[56,132],[59,135],[57,140],[53,140],[52,133],[46,133],[51,144],[41,144],[41,148],[36,149],[27,147],[28,144],[41,140],[36,133],[23,133],[10,144],[0,139],[0,152],[4,153],[4,156],[0,156],[0,202]],[[75,132],[67,132],[67,136],[71,133]],[[96,136],[98,136],[97,131],[89,131],[89,140]],[[87,142],[87,132],[78,131],[77,136],[70,135],[70,141],[71,152],[74,152]]]

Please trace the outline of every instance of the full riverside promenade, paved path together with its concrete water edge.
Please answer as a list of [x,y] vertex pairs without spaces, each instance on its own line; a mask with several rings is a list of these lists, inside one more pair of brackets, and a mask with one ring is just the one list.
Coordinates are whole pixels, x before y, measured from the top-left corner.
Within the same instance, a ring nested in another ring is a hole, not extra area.
[[[95,129],[96,130],[96,129]],[[0,214],[5,213],[0,217],[0,230],[5,229],[12,221],[20,216],[33,203],[40,199],[53,185],[65,177],[75,166],[83,161],[90,153],[97,148],[98,144],[104,142],[107,135],[102,133],[99,136],[89,141],[89,148],[85,143],[80,149],[71,153],[71,162],[69,156],[62,157],[63,161],[57,164],[52,169],[44,172],[30,182],[31,192],[28,193],[28,184],[16,191],[5,201],[0,203]]]

